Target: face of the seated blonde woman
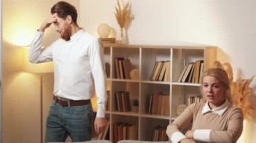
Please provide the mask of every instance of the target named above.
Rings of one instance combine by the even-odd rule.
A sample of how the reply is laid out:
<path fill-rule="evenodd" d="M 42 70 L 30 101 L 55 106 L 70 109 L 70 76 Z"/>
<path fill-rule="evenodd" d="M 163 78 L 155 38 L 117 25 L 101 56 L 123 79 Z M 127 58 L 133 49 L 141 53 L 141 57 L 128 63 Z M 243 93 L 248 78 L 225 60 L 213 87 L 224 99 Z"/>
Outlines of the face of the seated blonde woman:
<path fill-rule="evenodd" d="M 203 77 L 202 93 L 212 109 L 222 105 L 226 97 L 226 87 L 215 77 Z"/>

